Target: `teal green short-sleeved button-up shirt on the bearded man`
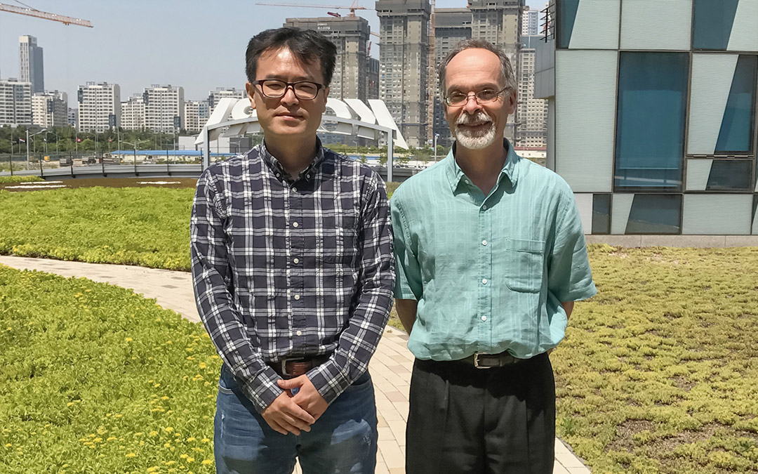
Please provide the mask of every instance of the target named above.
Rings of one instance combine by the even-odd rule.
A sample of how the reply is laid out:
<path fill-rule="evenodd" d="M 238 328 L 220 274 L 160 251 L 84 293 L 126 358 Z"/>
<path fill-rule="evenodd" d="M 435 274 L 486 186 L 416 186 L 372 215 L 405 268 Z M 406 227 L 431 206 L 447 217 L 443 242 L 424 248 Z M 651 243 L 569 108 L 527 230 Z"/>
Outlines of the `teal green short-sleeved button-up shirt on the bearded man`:
<path fill-rule="evenodd" d="M 560 303 L 597 293 L 571 188 L 504 146 L 489 196 L 453 150 L 392 196 L 395 297 L 418 301 L 408 341 L 418 359 L 535 356 L 565 334 Z"/>

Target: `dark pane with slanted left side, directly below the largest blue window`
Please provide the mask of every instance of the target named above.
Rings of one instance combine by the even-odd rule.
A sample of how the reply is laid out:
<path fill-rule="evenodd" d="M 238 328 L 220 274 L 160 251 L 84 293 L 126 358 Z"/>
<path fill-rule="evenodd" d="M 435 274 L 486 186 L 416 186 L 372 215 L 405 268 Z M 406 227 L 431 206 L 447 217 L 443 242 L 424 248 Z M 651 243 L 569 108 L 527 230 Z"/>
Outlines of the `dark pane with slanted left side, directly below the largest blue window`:
<path fill-rule="evenodd" d="M 681 194 L 636 194 L 626 234 L 681 234 Z"/>

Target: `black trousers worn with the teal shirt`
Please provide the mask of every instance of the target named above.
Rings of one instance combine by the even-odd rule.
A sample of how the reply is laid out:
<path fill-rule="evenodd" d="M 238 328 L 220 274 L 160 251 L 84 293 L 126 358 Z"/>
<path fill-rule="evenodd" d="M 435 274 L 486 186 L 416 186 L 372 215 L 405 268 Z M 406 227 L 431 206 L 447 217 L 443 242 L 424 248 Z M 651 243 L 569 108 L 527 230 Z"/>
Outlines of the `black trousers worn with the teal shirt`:
<path fill-rule="evenodd" d="M 547 354 L 497 369 L 416 359 L 408 474 L 551 474 L 556 390 Z"/>

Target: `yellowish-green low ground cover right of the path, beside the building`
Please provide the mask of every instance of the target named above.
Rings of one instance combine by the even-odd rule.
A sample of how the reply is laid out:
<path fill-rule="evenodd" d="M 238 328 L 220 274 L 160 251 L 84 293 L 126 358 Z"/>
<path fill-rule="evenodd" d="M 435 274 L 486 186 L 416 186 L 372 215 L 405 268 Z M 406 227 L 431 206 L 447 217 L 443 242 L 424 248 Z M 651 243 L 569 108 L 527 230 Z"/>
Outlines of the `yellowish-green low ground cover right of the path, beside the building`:
<path fill-rule="evenodd" d="M 559 435 L 593 472 L 758 472 L 758 248 L 590 260 L 551 356 Z"/>

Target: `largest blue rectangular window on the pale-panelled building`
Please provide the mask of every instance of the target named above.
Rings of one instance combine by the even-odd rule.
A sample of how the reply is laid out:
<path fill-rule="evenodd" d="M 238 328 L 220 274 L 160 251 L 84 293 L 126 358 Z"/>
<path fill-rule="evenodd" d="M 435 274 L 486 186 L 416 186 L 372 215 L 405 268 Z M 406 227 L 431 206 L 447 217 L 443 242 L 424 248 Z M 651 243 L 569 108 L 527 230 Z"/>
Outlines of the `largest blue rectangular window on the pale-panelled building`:
<path fill-rule="evenodd" d="M 615 186 L 681 188 L 689 55 L 622 52 Z"/>

